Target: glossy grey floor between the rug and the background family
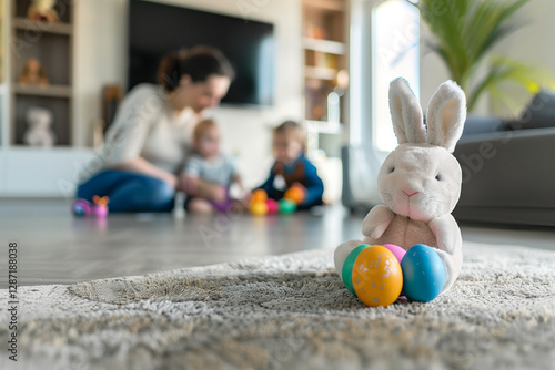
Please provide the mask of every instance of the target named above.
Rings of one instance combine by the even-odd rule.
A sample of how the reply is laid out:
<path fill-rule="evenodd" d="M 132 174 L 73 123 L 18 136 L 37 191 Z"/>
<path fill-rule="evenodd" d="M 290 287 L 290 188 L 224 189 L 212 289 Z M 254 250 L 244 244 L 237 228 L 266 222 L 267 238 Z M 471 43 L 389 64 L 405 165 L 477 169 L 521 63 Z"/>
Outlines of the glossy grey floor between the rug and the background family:
<path fill-rule="evenodd" d="M 0 199 L 0 235 L 18 243 L 20 285 L 72 284 L 264 255 L 333 248 L 361 237 L 364 215 L 326 206 L 295 215 L 112 214 L 74 218 L 63 199 Z M 555 250 L 554 228 L 461 225 L 466 241 Z M 6 266 L 6 265 L 4 265 Z M 7 288 L 1 269 L 0 288 Z"/>

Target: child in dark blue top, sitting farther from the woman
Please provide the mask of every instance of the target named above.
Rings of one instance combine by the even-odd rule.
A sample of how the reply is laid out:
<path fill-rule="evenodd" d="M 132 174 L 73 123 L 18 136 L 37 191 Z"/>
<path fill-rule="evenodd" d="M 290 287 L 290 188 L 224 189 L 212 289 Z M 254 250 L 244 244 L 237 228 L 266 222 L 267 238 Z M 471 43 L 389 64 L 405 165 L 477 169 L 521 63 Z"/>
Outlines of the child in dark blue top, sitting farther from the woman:
<path fill-rule="evenodd" d="M 275 163 L 265 183 L 259 187 L 275 201 L 283 198 L 292 186 L 302 188 L 304 199 L 299 204 L 299 209 L 321 205 L 324 193 L 316 167 L 304 156 L 304 132 L 296 122 L 285 121 L 275 127 L 272 143 Z"/>

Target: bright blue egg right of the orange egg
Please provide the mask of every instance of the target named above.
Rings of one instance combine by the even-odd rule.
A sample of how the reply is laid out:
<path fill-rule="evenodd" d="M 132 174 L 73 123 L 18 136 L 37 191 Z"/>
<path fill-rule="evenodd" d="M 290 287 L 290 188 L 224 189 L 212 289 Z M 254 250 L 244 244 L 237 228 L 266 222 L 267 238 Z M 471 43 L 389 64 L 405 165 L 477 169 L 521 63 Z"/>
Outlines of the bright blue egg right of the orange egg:
<path fill-rule="evenodd" d="M 445 267 L 434 248 L 424 244 L 413 246 L 403 257 L 401 267 L 406 298 L 428 302 L 442 291 Z"/>

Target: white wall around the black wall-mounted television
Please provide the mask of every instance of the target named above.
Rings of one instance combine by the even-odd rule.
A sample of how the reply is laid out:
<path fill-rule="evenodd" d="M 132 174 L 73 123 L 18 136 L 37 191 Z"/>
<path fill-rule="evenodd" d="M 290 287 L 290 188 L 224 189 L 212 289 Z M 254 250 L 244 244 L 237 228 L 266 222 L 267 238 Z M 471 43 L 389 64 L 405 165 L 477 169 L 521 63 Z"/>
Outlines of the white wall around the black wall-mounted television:
<path fill-rule="evenodd" d="M 301 2 L 299 0 L 167 0 L 167 3 L 244 17 L 274 23 L 276 35 L 275 105 L 266 109 L 220 106 L 212 114 L 220 122 L 223 150 L 240 155 L 248 183 L 266 173 L 270 162 L 270 126 L 284 119 L 301 119 L 303 71 Z M 127 0 L 80 0 L 75 14 L 75 142 L 88 145 L 94 120 L 100 116 L 104 84 L 125 85 Z M 251 184 L 254 185 L 254 184 Z"/>

